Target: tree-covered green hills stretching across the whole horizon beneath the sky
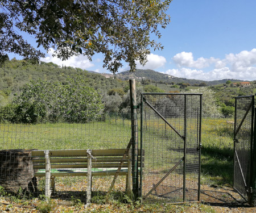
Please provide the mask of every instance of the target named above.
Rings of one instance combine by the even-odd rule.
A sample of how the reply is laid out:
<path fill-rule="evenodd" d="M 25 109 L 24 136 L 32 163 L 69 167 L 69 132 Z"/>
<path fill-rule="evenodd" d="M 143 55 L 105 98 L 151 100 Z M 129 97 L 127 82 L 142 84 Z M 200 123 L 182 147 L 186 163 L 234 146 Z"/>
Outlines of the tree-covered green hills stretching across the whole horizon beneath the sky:
<path fill-rule="evenodd" d="M 22 60 L 10 60 L 5 66 L 0 66 L 0 106 L 6 105 L 11 94 L 19 93 L 19 88 L 31 80 L 47 80 L 65 84 L 68 78 L 77 75 L 85 79 L 90 87 L 97 89 L 101 94 L 118 93 L 123 96 L 129 90 L 128 79 L 137 79 L 138 86 L 143 86 L 144 91 L 175 91 L 183 92 L 189 89 L 198 89 L 199 86 L 209 86 L 215 92 L 215 97 L 220 105 L 234 106 L 234 97 L 256 94 L 256 81 L 249 87 L 234 86 L 230 80 L 227 85 L 225 80 L 201 81 L 187 78 L 177 78 L 154 70 L 138 69 L 135 73 L 129 71 L 116 74 L 96 73 L 80 68 L 60 67 L 52 62 L 40 64 L 24 64 Z"/>

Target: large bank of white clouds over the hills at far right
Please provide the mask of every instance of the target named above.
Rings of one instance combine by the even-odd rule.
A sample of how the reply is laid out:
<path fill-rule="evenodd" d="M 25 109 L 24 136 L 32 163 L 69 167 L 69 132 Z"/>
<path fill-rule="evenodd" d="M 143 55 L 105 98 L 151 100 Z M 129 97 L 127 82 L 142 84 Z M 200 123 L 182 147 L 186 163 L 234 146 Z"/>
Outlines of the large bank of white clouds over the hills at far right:
<path fill-rule="evenodd" d="M 191 78 L 205 81 L 233 78 L 239 80 L 256 80 L 256 49 L 241 51 L 238 54 L 230 53 L 225 59 L 204 59 L 196 61 L 193 54 L 187 52 L 177 53 L 173 60 L 177 69 L 168 69 L 165 73 L 176 77 Z M 203 68 L 214 64 L 214 69 L 206 72 Z M 191 69 L 195 68 L 195 69 Z"/>

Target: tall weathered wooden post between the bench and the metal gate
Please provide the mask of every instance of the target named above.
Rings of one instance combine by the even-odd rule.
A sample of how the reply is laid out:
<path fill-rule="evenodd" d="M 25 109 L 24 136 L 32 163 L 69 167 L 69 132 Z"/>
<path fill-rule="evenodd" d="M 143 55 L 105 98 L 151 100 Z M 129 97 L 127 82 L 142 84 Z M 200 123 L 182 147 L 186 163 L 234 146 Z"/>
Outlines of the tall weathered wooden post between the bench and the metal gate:
<path fill-rule="evenodd" d="M 130 103 L 131 103 L 131 162 L 132 162 L 132 169 L 131 172 L 133 173 L 133 194 L 134 198 L 138 198 L 138 189 L 139 189 L 139 182 L 138 182 L 138 172 L 137 172 L 137 163 L 138 163 L 138 120 L 137 120 L 137 101 L 136 101 L 136 86 L 135 86 L 135 79 L 129 80 L 130 84 Z"/>

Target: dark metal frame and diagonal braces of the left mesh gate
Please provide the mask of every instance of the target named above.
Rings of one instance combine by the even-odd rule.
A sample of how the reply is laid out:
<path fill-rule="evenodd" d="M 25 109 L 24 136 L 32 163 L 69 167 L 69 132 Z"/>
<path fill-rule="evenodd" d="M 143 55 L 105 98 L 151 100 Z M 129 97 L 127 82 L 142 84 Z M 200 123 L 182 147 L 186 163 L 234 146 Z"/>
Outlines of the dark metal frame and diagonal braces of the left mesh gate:
<path fill-rule="evenodd" d="M 171 126 L 171 124 L 169 125 L 172 130 L 174 130 L 177 135 L 179 135 L 183 140 L 184 140 L 184 156 L 182 158 L 183 160 L 183 202 L 175 202 L 175 203 L 172 203 L 172 204 L 184 204 L 184 203 L 200 203 L 200 194 L 201 194 L 201 147 L 202 147 L 202 144 L 201 144 L 201 126 L 202 126 L 202 116 L 203 116 L 203 93 L 141 93 L 141 149 L 143 148 L 143 102 L 146 102 L 144 101 L 144 97 L 143 95 L 184 95 L 184 101 L 185 101 L 185 104 L 184 104 L 184 136 L 181 136 L 179 132 L 177 132 L 175 130 L 175 128 L 173 128 Z M 200 95 L 200 112 L 199 112 L 199 131 L 198 131 L 198 134 L 199 134 L 199 140 L 198 140 L 198 145 L 199 145 L 199 176 L 198 176 L 198 194 L 197 194 L 197 201 L 185 201 L 185 189 L 186 189 L 186 151 L 187 151 L 187 143 L 186 143 L 186 139 L 187 139 L 187 95 Z M 160 115 L 160 113 L 159 113 Z M 162 115 L 161 115 L 162 116 Z M 165 119 L 163 119 L 164 122 Z M 145 153 L 146 154 L 146 153 Z M 181 160 L 180 160 L 181 161 Z M 176 166 L 180 163 L 180 161 L 173 167 L 171 168 L 171 170 L 166 174 L 166 176 L 164 176 L 157 184 L 156 184 L 156 187 L 158 185 L 160 185 L 160 182 L 162 182 L 164 180 L 164 178 L 166 178 L 169 174 L 171 174 L 175 169 L 176 169 Z M 141 165 L 142 165 L 142 158 L 141 158 Z M 143 166 L 144 167 L 144 166 Z M 143 183 L 143 169 L 141 169 L 140 171 L 140 185 L 139 185 L 139 197 L 141 197 L 141 203 L 143 202 L 143 195 L 142 195 L 142 183 Z M 153 187 L 154 189 L 154 187 Z"/>

